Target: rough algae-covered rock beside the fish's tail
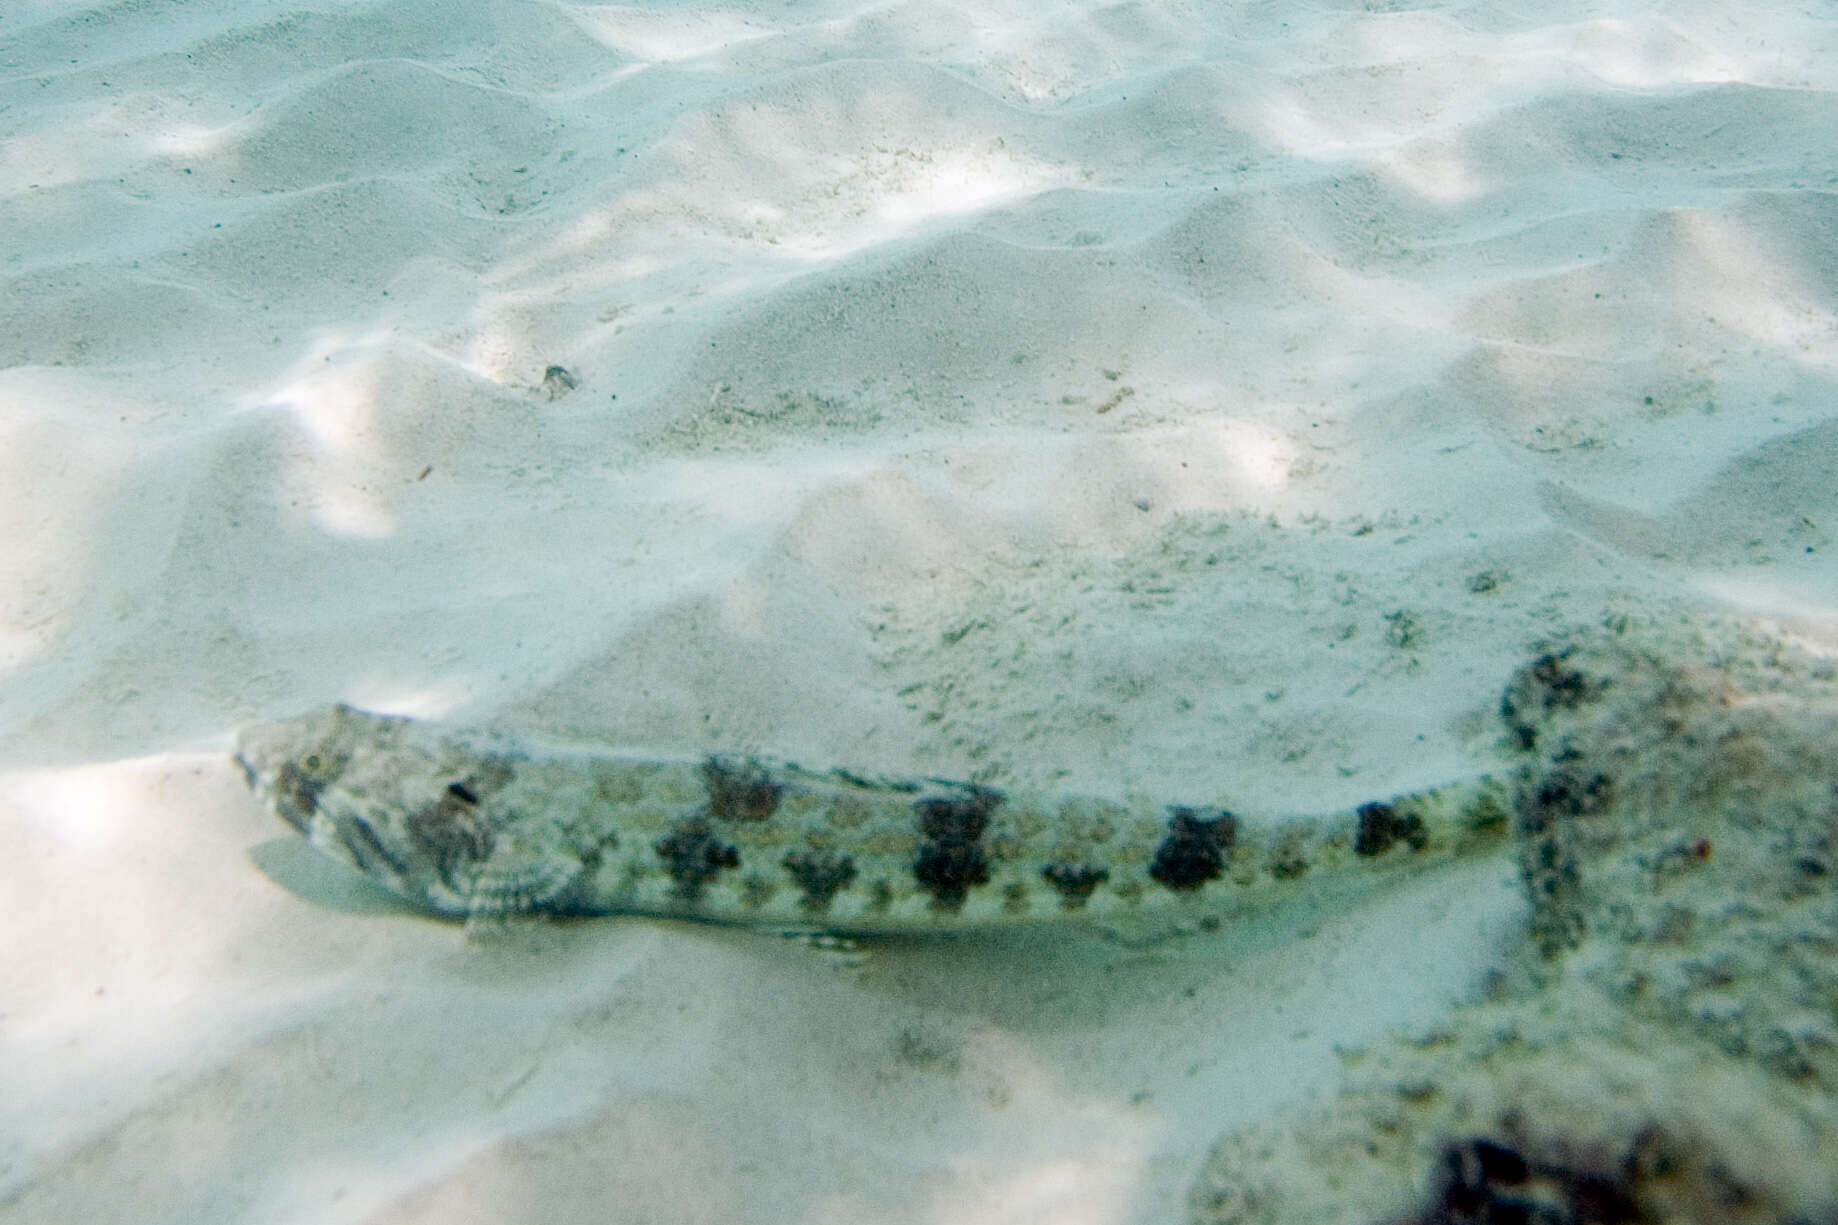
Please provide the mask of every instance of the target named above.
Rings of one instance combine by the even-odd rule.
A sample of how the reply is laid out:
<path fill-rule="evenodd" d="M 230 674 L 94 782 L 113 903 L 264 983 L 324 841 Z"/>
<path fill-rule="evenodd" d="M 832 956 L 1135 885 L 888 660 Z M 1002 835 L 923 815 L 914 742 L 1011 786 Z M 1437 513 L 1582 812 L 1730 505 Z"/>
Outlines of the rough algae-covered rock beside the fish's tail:
<path fill-rule="evenodd" d="M 1531 907 L 1494 999 L 1224 1137 L 1195 1221 L 1838 1221 L 1838 670 L 1617 620 L 1502 701 Z"/>

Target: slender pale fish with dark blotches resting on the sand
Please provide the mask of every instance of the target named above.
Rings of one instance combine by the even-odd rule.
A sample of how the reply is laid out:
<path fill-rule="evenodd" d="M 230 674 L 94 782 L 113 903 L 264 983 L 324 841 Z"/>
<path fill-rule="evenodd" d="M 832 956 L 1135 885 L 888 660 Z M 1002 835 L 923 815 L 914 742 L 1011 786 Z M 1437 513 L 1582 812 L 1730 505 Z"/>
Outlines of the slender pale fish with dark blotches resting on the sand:
<path fill-rule="evenodd" d="M 331 706 L 237 761 L 318 850 L 456 920 L 656 914 L 833 933 L 1129 923 L 1496 846 L 1494 778 L 1312 819 L 656 760 Z"/>

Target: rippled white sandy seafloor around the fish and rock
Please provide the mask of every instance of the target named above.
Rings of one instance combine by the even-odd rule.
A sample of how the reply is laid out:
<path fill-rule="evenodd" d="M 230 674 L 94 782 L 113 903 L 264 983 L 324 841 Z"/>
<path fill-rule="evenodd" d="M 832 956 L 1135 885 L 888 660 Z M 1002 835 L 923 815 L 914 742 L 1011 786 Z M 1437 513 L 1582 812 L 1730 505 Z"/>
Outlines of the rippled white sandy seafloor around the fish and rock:
<path fill-rule="evenodd" d="M 476 947 L 232 730 L 1299 815 L 1487 769 L 1605 612 L 1832 640 L 1834 88 L 1803 2 L 9 0 L 0 1219 L 1180 1219 L 1480 995 L 1509 859 Z"/>

